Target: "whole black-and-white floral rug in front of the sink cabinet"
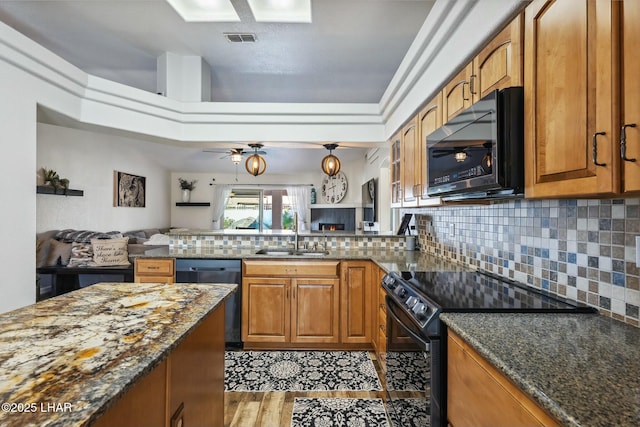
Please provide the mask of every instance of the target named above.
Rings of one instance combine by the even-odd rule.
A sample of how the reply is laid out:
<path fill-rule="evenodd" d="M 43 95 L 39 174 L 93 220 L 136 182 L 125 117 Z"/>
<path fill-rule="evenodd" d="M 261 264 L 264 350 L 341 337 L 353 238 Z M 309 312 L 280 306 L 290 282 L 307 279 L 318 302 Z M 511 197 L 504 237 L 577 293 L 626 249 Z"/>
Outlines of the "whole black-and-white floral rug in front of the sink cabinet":
<path fill-rule="evenodd" d="M 227 351 L 225 391 L 379 391 L 365 351 Z"/>

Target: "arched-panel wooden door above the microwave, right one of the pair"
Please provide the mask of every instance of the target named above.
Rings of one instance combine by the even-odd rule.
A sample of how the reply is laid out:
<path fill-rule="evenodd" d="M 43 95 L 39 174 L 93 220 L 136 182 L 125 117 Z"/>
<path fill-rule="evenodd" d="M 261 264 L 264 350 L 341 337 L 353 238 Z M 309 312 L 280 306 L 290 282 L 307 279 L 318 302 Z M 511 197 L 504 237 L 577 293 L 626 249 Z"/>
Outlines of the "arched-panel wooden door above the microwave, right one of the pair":
<path fill-rule="evenodd" d="M 522 19 L 518 15 L 473 59 L 474 102 L 495 89 L 522 86 Z"/>

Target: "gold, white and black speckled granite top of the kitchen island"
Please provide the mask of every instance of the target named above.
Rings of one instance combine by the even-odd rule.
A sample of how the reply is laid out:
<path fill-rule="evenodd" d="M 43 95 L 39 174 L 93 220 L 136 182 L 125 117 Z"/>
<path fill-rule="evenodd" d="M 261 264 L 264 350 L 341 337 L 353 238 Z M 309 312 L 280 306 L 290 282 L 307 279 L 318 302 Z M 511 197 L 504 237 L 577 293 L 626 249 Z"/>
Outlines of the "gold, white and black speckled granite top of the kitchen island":
<path fill-rule="evenodd" d="M 0 315 L 0 425 L 87 425 L 235 289 L 100 283 Z"/>

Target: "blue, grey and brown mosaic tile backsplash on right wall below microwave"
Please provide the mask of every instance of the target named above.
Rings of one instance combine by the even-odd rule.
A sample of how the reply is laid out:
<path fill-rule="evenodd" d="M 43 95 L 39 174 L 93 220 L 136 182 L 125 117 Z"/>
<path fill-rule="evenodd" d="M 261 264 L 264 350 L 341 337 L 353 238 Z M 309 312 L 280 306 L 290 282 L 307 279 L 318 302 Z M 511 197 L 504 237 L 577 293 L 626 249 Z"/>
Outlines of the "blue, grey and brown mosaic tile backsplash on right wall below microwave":
<path fill-rule="evenodd" d="M 640 199 L 513 200 L 411 209 L 420 250 L 640 326 Z"/>

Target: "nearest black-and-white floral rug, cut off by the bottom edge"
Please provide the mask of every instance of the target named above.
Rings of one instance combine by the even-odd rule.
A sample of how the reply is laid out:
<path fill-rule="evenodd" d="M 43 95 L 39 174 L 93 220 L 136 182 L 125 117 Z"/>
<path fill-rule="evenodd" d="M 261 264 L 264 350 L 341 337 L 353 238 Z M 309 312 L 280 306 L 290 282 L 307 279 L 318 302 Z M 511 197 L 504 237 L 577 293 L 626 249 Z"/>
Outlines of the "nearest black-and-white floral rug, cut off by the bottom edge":
<path fill-rule="evenodd" d="M 291 427 L 389 427 L 382 399 L 297 397 Z"/>

